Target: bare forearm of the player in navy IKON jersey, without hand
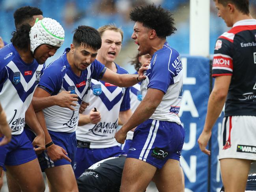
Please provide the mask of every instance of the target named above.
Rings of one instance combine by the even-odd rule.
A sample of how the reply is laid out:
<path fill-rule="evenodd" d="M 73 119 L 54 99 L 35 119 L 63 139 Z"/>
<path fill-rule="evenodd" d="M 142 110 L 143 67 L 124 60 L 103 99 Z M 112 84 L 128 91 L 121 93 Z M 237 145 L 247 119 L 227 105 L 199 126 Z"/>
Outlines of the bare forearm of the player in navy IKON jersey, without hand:
<path fill-rule="evenodd" d="M 210 132 L 213 125 L 217 121 L 224 103 L 226 101 L 226 95 L 220 95 L 218 92 L 212 91 L 208 101 L 206 121 L 204 124 L 204 131 Z"/>

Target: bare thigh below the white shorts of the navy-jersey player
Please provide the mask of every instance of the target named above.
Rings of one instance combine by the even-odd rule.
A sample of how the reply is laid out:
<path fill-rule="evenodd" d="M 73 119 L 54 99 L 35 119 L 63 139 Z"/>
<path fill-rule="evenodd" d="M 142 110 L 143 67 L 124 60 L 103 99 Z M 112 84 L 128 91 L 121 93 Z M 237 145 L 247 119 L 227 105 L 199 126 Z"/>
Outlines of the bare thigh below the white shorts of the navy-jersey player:
<path fill-rule="evenodd" d="M 220 170 L 225 192 L 245 191 L 251 160 L 220 159 Z"/>

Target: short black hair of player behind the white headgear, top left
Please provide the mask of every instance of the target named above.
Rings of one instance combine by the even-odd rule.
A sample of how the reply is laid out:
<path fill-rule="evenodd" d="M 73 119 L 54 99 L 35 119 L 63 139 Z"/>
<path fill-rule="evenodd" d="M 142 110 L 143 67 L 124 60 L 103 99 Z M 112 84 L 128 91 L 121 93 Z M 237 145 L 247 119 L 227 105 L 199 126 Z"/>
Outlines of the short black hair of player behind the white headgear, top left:
<path fill-rule="evenodd" d="M 43 15 L 41 9 L 37 7 L 24 6 L 13 13 L 15 27 L 19 28 L 24 23 L 32 21 L 34 15 Z"/>

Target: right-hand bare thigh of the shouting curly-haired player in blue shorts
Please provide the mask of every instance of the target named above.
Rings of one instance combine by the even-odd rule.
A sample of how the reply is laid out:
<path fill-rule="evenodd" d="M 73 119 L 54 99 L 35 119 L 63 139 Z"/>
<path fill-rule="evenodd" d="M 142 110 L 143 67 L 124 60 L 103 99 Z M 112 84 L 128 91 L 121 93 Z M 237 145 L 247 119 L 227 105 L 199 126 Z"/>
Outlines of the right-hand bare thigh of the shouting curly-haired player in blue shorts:
<path fill-rule="evenodd" d="M 183 192 L 179 161 L 168 159 L 163 168 L 156 171 L 154 182 L 159 192 Z"/>

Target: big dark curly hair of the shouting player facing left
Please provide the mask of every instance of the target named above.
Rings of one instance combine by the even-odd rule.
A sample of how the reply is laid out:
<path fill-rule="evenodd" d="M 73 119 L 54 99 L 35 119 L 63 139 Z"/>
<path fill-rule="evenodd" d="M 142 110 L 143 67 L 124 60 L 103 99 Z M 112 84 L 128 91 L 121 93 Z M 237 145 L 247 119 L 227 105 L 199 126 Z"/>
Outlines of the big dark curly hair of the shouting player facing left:
<path fill-rule="evenodd" d="M 163 9 L 161 6 L 156 7 L 155 4 L 136 7 L 131 11 L 130 19 L 141 22 L 143 26 L 155 30 L 160 38 L 165 38 L 176 31 L 170 11 Z"/>

